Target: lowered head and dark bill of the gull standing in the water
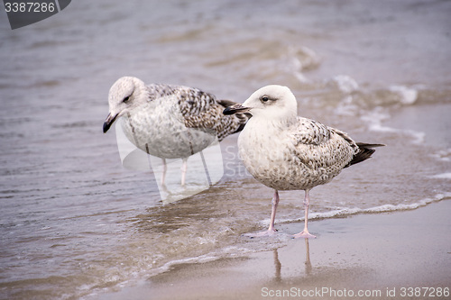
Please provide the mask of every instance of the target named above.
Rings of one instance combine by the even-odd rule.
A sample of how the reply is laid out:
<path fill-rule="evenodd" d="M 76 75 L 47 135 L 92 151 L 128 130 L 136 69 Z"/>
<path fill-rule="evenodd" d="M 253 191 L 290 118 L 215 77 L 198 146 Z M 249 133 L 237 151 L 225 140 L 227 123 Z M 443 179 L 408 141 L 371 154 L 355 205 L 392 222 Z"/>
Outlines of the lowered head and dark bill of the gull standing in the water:
<path fill-rule="evenodd" d="M 111 86 L 108 95 L 109 114 L 104 123 L 104 133 L 115 120 L 147 102 L 148 93 L 143 81 L 136 77 L 121 77 Z"/>

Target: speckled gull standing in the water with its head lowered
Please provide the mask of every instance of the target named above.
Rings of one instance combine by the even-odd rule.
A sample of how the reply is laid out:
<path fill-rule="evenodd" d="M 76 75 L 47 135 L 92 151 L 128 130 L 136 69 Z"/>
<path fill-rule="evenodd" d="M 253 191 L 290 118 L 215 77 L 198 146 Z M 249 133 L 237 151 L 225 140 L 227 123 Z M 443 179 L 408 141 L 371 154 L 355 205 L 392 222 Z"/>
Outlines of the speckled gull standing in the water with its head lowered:
<path fill-rule="evenodd" d="M 187 159 L 212 142 L 240 132 L 249 114 L 224 115 L 235 102 L 189 86 L 145 85 L 136 77 L 121 77 L 108 95 L 107 132 L 120 118 L 125 136 L 137 148 L 163 160 L 161 186 L 165 184 L 166 159 L 183 159 L 181 185 L 185 185 Z"/>

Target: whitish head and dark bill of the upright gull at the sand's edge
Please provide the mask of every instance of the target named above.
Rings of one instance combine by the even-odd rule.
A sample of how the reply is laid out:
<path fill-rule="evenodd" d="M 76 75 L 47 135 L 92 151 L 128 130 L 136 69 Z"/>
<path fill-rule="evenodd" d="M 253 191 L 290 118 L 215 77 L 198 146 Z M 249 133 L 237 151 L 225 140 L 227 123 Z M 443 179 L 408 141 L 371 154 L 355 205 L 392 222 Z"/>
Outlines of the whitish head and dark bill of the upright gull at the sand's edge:
<path fill-rule="evenodd" d="M 224 114 L 239 112 L 252 114 L 253 118 L 290 120 L 298 115 L 298 103 L 287 86 L 263 86 L 244 101 L 243 105 L 227 107 Z"/>

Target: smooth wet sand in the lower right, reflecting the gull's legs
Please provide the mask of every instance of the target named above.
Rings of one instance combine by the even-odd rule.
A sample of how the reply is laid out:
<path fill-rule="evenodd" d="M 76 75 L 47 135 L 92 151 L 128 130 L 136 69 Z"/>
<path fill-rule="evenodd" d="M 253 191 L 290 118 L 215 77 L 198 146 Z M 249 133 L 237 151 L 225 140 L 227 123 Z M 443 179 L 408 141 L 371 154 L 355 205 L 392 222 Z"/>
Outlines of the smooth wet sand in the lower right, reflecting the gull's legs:
<path fill-rule="evenodd" d="M 451 287 L 449 212 L 451 201 L 443 200 L 411 211 L 313 221 L 315 240 L 179 264 L 99 299 L 449 299 L 440 294 Z M 299 223 L 277 228 L 294 233 Z"/>

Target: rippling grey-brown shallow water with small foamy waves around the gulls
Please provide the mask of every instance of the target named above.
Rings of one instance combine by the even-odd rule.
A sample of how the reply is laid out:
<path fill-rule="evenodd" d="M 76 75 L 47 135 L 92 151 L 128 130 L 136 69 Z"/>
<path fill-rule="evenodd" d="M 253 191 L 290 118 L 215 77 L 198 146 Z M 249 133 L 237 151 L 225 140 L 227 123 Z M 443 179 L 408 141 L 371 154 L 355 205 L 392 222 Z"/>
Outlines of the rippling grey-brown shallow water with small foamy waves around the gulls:
<path fill-rule="evenodd" d="M 245 172 L 237 135 L 221 143 L 221 180 L 169 204 L 158 176 L 122 166 L 101 126 L 124 75 L 238 102 L 283 84 L 299 114 L 387 144 L 313 189 L 313 219 L 450 199 L 450 13 L 446 1 L 78 0 L 14 31 L 1 13 L 0 297 L 95 298 L 179 261 L 286 242 L 240 238 L 267 225 L 272 191 Z M 281 192 L 276 222 L 300 231 L 302 198 Z"/>

